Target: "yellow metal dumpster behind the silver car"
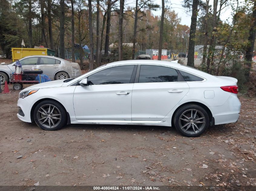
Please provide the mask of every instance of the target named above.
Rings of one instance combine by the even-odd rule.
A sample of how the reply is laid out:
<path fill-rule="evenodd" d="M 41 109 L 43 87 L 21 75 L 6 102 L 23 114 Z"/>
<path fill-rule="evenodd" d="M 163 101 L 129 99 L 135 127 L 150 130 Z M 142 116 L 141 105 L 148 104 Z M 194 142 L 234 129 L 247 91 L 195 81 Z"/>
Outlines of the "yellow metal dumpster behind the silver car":
<path fill-rule="evenodd" d="M 34 55 L 47 56 L 47 48 L 12 48 L 13 62 L 25 56 L 34 56 Z"/>

